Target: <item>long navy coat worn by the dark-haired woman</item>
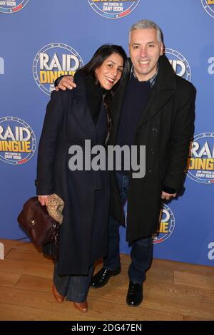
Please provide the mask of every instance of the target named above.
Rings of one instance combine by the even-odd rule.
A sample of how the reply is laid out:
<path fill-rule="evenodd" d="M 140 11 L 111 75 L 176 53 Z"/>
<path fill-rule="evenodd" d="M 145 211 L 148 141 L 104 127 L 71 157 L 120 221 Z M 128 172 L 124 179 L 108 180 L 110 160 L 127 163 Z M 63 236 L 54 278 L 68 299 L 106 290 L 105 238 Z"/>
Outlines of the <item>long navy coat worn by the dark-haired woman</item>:
<path fill-rule="evenodd" d="M 93 123 L 83 75 L 75 90 L 54 91 L 47 105 L 39 143 L 37 195 L 58 194 L 65 202 L 61 225 L 58 274 L 87 274 L 96 259 L 105 256 L 108 237 L 108 172 L 71 171 L 68 148 L 106 138 L 106 110 Z"/>

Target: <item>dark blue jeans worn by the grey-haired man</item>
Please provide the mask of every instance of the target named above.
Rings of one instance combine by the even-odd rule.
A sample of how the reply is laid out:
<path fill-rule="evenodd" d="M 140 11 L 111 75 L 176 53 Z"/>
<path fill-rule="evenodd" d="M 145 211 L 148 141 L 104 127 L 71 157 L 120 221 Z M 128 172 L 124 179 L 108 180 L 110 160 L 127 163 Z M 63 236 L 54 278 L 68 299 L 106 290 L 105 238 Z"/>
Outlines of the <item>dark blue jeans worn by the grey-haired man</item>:
<path fill-rule="evenodd" d="M 121 200 L 125 205 L 128 195 L 128 177 L 116 172 L 118 188 Z M 142 218 L 143 220 L 143 218 Z M 109 218 L 108 230 L 108 254 L 103 259 L 103 267 L 108 270 L 116 270 L 121 267 L 120 260 L 120 223 L 113 217 Z M 143 284 L 146 280 L 146 271 L 151 267 L 153 257 L 152 238 L 137 239 L 131 243 L 131 265 L 128 268 L 128 277 L 131 282 Z"/>

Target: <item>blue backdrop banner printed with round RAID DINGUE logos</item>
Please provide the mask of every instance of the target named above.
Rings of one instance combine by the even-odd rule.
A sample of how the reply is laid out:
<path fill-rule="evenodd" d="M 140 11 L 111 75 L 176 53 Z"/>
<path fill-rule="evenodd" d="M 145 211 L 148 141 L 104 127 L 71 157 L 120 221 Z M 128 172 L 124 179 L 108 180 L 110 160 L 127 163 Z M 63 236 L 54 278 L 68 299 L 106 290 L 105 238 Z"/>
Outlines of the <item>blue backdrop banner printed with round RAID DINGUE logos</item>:
<path fill-rule="evenodd" d="M 2 239 L 26 237 L 16 217 L 35 195 L 39 137 L 55 79 L 75 73 L 103 43 L 128 52 L 128 30 L 140 19 L 161 26 L 171 65 L 198 91 L 185 192 L 163 207 L 154 257 L 214 265 L 214 0 L 0 0 Z M 123 228 L 121 252 L 129 252 Z"/>

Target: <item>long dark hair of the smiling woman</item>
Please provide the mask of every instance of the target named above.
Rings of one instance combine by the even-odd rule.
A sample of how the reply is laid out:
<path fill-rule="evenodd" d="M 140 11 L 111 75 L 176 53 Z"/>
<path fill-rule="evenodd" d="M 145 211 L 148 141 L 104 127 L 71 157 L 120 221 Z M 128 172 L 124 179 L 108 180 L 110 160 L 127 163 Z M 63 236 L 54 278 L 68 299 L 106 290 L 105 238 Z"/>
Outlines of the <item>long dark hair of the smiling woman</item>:
<path fill-rule="evenodd" d="M 123 58 L 123 74 L 121 76 L 122 79 L 123 76 L 125 76 L 126 73 L 128 72 L 128 59 L 126 56 L 126 51 L 124 51 L 122 46 L 117 46 L 113 44 L 104 44 L 103 46 L 98 48 L 96 53 L 94 53 L 93 57 L 91 58 L 91 61 L 89 61 L 85 66 L 83 66 L 83 68 L 79 69 L 78 73 L 81 72 L 85 73 L 86 75 L 90 74 L 94 78 L 95 83 L 99 85 L 98 79 L 96 78 L 95 75 L 96 68 L 99 68 L 102 65 L 103 61 L 105 61 L 106 58 L 111 56 L 112 53 L 117 53 Z M 111 101 L 114 94 L 117 91 L 121 79 L 113 86 L 113 88 L 111 88 L 111 90 L 106 91 L 105 95 L 103 96 L 103 104 L 106 107 L 108 117 L 108 135 L 105 141 L 105 145 L 108 144 L 113 122 Z"/>

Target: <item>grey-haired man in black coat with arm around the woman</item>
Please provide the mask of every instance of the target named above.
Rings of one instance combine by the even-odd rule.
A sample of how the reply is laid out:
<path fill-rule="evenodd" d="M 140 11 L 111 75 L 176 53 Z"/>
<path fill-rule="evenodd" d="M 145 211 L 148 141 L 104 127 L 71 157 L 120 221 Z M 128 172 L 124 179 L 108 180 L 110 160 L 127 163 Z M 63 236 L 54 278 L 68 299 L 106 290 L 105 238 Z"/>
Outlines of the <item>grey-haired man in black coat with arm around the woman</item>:
<path fill-rule="evenodd" d="M 130 73 L 113 99 L 110 144 L 146 145 L 146 175 L 134 179 L 124 169 L 111 175 L 108 254 L 91 287 L 103 287 L 121 272 L 119 225 L 124 224 L 123 204 L 128 200 L 126 239 L 132 247 L 126 302 L 138 306 L 152 262 L 151 236 L 158 229 L 161 199 L 172 199 L 183 186 L 194 131 L 195 88 L 174 73 L 163 54 L 161 29 L 153 21 L 133 24 L 129 51 Z M 60 88 L 75 86 L 63 79 Z"/>

